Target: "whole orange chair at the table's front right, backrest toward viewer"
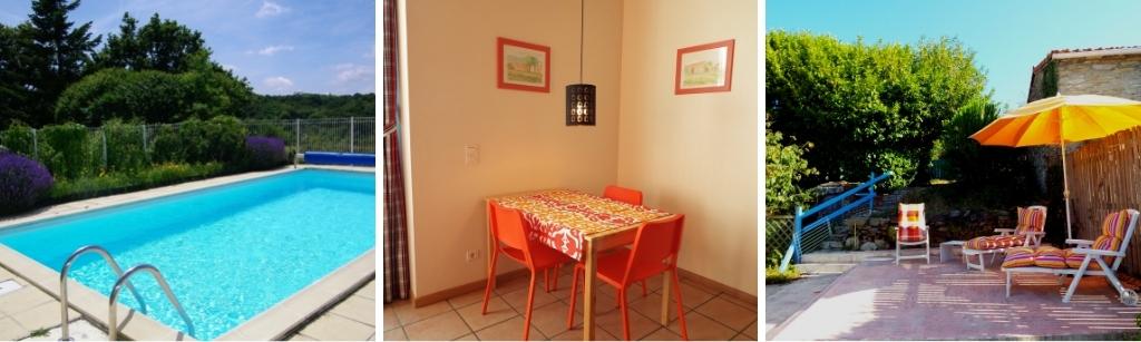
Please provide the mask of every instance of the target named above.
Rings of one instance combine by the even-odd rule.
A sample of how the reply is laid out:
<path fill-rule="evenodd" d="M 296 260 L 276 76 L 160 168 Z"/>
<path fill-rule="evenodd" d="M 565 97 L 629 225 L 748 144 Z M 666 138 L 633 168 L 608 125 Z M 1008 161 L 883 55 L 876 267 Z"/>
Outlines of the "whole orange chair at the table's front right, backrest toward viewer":
<path fill-rule="evenodd" d="M 678 214 L 664 220 L 642 223 L 634 236 L 633 250 L 620 249 L 617 252 L 598 259 L 598 278 L 618 290 L 618 304 L 622 309 L 622 339 L 630 340 L 630 317 L 626 304 L 626 288 L 638 280 L 671 271 L 673 295 L 677 300 L 678 319 L 681 324 L 681 339 L 689 340 L 686 333 L 686 315 L 681 307 L 681 286 L 678 284 L 678 250 L 681 249 L 681 227 L 686 217 Z M 567 328 L 574 326 L 574 306 L 577 302 L 578 272 L 585 266 L 575 264 L 574 283 L 570 285 L 570 309 L 567 310 Z"/>

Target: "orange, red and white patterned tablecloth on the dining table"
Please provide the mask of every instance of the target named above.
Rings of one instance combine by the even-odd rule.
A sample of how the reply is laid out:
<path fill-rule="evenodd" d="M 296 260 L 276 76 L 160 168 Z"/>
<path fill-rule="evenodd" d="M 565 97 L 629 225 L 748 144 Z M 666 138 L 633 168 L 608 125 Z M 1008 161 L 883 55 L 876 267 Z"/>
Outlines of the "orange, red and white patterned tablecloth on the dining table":
<path fill-rule="evenodd" d="M 495 198 L 504 207 L 523 212 L 531 223 L 529 238 L 582 260 L 588 235 L 670 215 L 656 209 L 632 205 L 591 194 L 558 189 Z"/>

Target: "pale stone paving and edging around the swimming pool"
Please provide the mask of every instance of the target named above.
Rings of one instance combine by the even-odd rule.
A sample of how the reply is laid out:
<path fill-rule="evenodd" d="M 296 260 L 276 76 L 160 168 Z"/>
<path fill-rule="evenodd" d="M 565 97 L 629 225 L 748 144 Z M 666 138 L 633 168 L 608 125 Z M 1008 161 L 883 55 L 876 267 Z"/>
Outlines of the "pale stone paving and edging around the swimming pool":
<path fill-rule="evenodd" d="M 302 166 L 305 168 L 305 166 Z M 317 169 L 333 169 L 348 171 L 375 171 L 373 168 L 354 166 L 319 166 Z M 55 217 L 73 214 L 107 206 L 131 203 L 141 199 L 161 197 L 165 195 L 184 193 L 221 184 L 229 184 L 248 179 L 266 177 L 293 170 L 282 168 L 272 171 L 246 172 L 241 174 L 224 176 L 205 180 L 189 181 L 171 186 L 157 187 L 135 193 L 111 195 L 104 197 L 88 198 L 75 202 L 62 203 L 47 206 L 31 213 L 0 218 L 0 229 L 25 222 L 50 219 Z M 11 262 L 11 261 L 9 261 Z M 58 276 L 58 275 L 57 275 Z M 0 283 L 15 280 L 19 288 L 0 294 L 0 341 L 16 340 L 57 340 L 60 336 L 60 312 L 59 302 L 54 294 L 31 284 L 25 276 L 22 276 L 0 261 Z M 374 293 L 375 280 L 357 288 L 353 294 L 345 296 L 330 310 L 321 314 L 310 321 L 299 333 L 293 334 L 294 340 L 375 340 L 375 307 Z M 82 288 L 74 288 L 82 292 Z M 79 294 L 79 293 L 76 293 Z M 104 299 L 105 301 L 106 299 Z M 105 303 L 104 303 L 105 306 Z M 76 340 L 106 340 L 106 331 L 92 325 L 87 317 L 74 310 L 75 299 L 68 309 L 71 325 L 70 334 Z M 366 309 L 365 309 L 366 308 Z M 122 309 L 122 308 L 121 308 Z M 96 317 L 100 320 L 102 317 Z M 148 320 L 148 319 L 137 319 Z M 102 321 L 102 320 L 100 320 Z M 102 326 L 102 325 L 100 325 Z M 130 325 L 124 333 L 130 333 Z M 34 335 L 34 336 L 33 336 Z"/>

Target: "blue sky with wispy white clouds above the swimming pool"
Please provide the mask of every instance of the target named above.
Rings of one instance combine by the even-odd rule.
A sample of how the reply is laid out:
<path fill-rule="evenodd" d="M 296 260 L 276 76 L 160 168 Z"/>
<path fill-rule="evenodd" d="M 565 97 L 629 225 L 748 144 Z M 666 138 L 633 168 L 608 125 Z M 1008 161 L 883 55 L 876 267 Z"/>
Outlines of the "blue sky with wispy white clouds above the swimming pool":
<path fill-rule="evenodd" d="M 106 36 L 124 11 L 140 26 L 157 13 L 202 32 L 213 59 L 258 93 L 375 91 L 373 0 L 87 0 L 71 19 Z M 6 25 L 30 13 L 30 0 L 0 1 Z"/>

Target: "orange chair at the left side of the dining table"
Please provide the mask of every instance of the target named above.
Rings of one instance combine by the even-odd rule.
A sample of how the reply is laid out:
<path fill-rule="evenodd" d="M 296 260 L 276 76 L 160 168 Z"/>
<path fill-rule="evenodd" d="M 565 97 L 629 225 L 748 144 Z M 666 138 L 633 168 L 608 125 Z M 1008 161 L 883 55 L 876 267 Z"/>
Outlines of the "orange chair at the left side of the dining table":
<path fill-rule="evenodd" d="M 502 207 L 496 202 L 492 202 L 492 238 L 496 241 L 496 247 L 492 251 L 492 263 L 487 270 L 483 315 L 487 315 L 487 301 L 492 294 L 495 264 L 499 261 L 499 254 L 503 253 L 531 270 L 531 287 L 528 287 L 527 292 L 527 314 L 523 320 L 523 340 L 527 340 L 531 332 L 531 310 L 535 300 L 535 275 L 540 270 L 544 271 L 545 275 L 547 270 L 572 259 L 559 251 L 543 245 L 539 241 L 528 239 L 527 231 L 531 230 L 531 227 L 523 219 L 523 213 L 518 210 Z M 556 276 L 558 276 L 557 272 Z"/>

